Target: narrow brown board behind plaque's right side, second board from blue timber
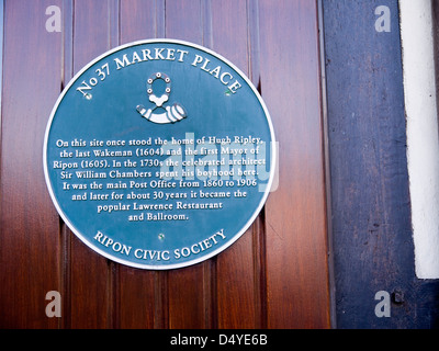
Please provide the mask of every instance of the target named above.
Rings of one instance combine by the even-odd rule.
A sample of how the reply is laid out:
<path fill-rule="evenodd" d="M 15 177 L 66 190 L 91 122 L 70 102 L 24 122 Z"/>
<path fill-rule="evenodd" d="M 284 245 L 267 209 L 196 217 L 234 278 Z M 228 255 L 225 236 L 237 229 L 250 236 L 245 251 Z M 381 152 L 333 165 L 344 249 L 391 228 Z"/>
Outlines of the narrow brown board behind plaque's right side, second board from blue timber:
<path fill-rule="evenodd" d="M 246 0 L 212 1 L 213 49 L 249 73 Z M 254 267 L 252 227 L 217 257 L 219 328 L 256 328 L 260 310 Z"/>

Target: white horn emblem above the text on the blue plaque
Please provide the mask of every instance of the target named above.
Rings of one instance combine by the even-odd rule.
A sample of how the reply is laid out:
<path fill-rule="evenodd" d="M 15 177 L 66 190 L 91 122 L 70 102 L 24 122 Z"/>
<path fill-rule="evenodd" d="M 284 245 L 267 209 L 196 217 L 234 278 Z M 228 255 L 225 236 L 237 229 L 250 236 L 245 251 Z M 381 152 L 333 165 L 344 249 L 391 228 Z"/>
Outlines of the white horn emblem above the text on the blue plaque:
<path fill-rule="evenodd" d="M 165 93 L 161 97 L 157 97 L 153 90 L 153 83 L 157 79 L 162 79 L 166 82 Z M 177 102 L 172 106 L 162 106 L 166 102 L 168 102 L 169 94 L 171 92 L 171 79 L 167 75 L 161 72 L 154 73 L 148 78 L 147 82 L 149 101 L 156 106 L 154 109 L 146 109 L 144 105 L 137 105 L 137 112 L 143 117 L 158 124 L 176 123 L 187 117 L 184 107 Z M 154 111 L 158 107 L 165 109 L 166 112 L 155 113 Z"/>

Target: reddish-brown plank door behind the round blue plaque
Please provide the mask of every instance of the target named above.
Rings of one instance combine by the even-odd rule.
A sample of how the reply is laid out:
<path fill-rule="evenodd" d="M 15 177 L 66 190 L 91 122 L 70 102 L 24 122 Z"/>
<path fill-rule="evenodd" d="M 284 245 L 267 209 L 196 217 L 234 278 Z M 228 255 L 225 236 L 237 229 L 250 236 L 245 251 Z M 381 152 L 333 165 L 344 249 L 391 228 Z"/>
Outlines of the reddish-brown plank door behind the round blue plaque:
<path fill-rule="evenodd" d="M 60 32 L 46 30 L 57 7 Z M 0 327 L 328 328 L 327 208 L 318 1 L 4 0 Z M 217 257 L 173 271 L 109 261 L 60 220 L 43 174 L 45 127 L 94 57 L 137 39 L 209 47 L 261 92 L 279 186 Z M 48 318 L 46 293 L 61 296 Z"/>

